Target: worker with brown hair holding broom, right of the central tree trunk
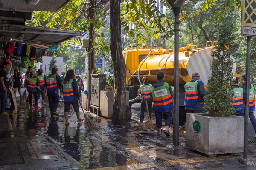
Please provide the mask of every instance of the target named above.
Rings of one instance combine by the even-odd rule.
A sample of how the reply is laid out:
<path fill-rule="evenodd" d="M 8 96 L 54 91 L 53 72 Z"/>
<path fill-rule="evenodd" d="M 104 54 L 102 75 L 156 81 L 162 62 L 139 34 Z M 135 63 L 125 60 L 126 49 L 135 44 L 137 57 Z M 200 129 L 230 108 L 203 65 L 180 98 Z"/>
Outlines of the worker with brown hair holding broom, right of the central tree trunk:
<path fill-rule="evenodd" d="M 140 94 L 142 96 L 141 100 L 141 105 L 140 105 L 140 123 L 143 123 L 144 120 L 144 113 L 146 109 L 146 102 L 145 102 L 145 97 L 150 97 L 151 95 L 151 88 L 152 85 L 148 84 L 148 77 L 143 77 L 142 78 L 143 85 L 140 86 Z M 149 111 L 149 116 L 150 119 L 152 118 L 152 99 L 148 99 L 148 111 Z"/>

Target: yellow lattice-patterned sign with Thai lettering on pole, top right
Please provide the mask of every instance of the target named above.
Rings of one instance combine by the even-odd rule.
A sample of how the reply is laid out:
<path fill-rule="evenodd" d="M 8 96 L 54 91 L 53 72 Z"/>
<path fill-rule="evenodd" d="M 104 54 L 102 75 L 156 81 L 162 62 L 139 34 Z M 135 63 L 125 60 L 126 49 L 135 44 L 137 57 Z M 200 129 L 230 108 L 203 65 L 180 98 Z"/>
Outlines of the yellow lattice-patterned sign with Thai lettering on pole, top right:
<path fill-rule="evenodd" d="M 256 36 L 256 0 L 242 0 L 241 35 Z"/>

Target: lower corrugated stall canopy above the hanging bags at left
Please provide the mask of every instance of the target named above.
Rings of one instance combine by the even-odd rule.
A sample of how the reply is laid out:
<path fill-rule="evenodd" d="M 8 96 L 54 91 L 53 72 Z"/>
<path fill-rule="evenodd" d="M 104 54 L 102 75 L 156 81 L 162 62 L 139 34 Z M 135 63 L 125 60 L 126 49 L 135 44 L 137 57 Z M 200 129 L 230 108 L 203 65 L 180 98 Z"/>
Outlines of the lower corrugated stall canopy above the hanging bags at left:
<path fill-rule="evenodd" d="M 0 41 L 20 42 L 47 49 L 71 38 L 82 36 L 80 31 L 50 29 L 22 25 L 0 24 Z"/>

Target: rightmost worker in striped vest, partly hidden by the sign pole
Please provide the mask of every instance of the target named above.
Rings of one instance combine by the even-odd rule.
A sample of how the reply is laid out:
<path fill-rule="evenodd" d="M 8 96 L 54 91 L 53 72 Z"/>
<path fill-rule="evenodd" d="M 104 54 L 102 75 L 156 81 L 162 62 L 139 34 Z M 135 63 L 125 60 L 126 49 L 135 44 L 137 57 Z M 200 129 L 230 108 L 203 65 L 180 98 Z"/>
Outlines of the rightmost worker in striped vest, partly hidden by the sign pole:
<path fill-rule="evenodd" d="M 246 99 L 246 75 L 243 74 L 242 75 L 242 79 L 241 79 L 241 84 L 242 84 L 242 88 L 243 88 L 243 102 L 244 102 L 244 113 L 245 113 L 245 99 Z M 252 122 L 253 128 L 254 128 L 254 132 L 255 132 L 255 138 L 256 138 L 256 119 L 254 116 L 254 111 L 255 111 L 255 88 L 253 84 L 250 84 L 250 90 L 249 90 L 249 118 L 250 121 Z"/>

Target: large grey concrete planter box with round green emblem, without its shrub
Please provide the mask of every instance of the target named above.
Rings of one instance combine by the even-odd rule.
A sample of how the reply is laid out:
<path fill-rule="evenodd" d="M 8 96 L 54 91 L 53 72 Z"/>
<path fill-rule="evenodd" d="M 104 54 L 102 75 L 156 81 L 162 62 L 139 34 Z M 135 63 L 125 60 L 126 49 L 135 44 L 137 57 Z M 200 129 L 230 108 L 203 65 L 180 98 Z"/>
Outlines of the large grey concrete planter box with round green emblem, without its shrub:
<path fill-rule="evenodd" d="M 209 156 L 243 152 L 244 117 L 209 115 L 186 114 L 186 146 Z M 200 129 L 198 122 L 195 121 L 199 122 Z"/>

